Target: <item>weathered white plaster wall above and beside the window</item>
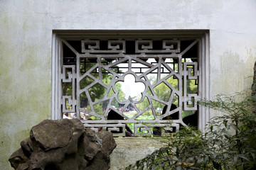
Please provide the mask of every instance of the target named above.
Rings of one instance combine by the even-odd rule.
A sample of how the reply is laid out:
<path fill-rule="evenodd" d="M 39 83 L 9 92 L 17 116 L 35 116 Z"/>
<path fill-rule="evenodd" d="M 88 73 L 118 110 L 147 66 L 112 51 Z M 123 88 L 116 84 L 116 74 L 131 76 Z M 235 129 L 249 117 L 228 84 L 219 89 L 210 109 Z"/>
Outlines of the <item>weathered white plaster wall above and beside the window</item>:
<path fill-rule="evenodd" d="M 1 0 L 0 169 L 51 111 L 53 29 L 209 29 L 210 96 L 249 89 L 256 1 Z"/>

